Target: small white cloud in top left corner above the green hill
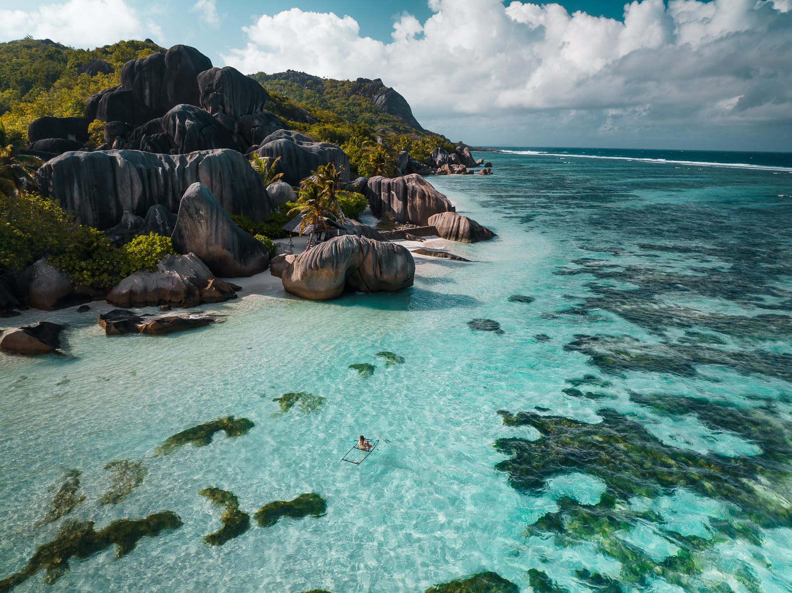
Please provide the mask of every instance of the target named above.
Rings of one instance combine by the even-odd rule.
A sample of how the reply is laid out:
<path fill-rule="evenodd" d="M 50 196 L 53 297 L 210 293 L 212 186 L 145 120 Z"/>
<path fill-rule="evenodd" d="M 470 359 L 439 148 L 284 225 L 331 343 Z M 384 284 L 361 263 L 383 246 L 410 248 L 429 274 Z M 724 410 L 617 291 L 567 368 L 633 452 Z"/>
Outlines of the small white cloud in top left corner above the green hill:
<path fill-rule="evenodd" d="M 95 48 L 122 39 L 162 37 L 162 29 L 144 23 L 125 0 L 68 0 L 37 10 L 0 10 L 0 40 L 51 39 L 78 48 Z"/>

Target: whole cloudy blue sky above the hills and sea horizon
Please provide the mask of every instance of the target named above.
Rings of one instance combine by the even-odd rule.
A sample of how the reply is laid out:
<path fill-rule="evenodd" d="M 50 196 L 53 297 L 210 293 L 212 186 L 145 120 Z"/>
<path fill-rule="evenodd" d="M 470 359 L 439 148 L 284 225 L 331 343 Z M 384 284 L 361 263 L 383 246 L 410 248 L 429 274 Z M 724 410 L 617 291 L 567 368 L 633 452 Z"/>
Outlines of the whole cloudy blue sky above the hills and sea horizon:
<path fill-rule="evenodd" d="M 0 0 L 27 34 L 382 78 L 468 143 L 792 150 L 792 0 Z"/>

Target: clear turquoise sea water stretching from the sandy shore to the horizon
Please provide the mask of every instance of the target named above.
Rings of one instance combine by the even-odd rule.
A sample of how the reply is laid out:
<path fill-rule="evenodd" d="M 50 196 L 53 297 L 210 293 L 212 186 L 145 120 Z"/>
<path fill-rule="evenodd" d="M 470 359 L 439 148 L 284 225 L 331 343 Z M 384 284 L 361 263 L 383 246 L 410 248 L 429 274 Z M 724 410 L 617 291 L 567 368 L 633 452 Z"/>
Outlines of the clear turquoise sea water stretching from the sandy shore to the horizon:
<path fill-rule="evenodd" d="M 792 169 L 475 156 L 492 176 L 430 181 L 497 238 L 447 244 L 474 263 L 417 260 L 408 291 L 272 289 L 163 337 L 33 316 L 69 324 L 69 355 L 0 358 L 0 578 L 70 519 L 169 510 L 177 530 L 15 591 L 425 591 L 485 570 L 531 591 L 530 569 L 567 591 L 605 590 L 585 571 L 623 591 L 792 590 Z M 272 401 L 299 391 L 326 399 Z M 228 415 L 255 427 L 155 454 Z M 382 442 L 341 462 L 361 433 Z M 102 505 L 120 459 L 147 475 Z M 40 525 L 68 469 L 86 498 Z M 251 515 L 303 492 L 327 512 L 209 546 L 210 486 Z"/>

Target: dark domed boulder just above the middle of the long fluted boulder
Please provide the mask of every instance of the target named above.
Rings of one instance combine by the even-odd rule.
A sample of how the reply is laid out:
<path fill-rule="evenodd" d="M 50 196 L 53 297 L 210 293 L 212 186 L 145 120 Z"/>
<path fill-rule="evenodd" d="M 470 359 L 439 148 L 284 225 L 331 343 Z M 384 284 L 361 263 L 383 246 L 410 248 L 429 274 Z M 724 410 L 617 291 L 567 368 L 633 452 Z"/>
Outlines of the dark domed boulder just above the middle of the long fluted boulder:
<path fill-rule="evenodd" d="M 179 154 L 196 150 L 237 148 L 237 143 L 226 127 L 194 105 L 176 105 L 162 116 L 161 121 L 162 131 L 169 136 L 171 145 Z"/>

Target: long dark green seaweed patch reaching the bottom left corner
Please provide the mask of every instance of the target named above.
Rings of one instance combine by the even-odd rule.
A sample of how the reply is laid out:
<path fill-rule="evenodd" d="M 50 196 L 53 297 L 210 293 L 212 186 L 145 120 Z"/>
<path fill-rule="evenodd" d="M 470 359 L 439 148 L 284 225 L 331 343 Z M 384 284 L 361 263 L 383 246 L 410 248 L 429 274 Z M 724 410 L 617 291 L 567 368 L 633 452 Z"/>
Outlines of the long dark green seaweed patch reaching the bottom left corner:
<path fill-rule="evenodd" d="M 177 529 L 184 523 L 173 511 L 162 511 L 146 519 L 118 519 L 105 529 L 93 529 L 93 521 L 69 521 L 63 523 L 55 539 L 40 545 L 36 553 L 21 571 L 0 580 L 0 593 L 10 591 L 36 572 L 44 569 L 44 583 L 55 583 L 69 570 L 69 559 L 85 559 L 110 545 L 116 544 L 116 558 L 124 557 L 135 549 L 144 536 L 154 537 L 162 530 Z"/>

